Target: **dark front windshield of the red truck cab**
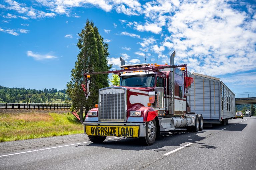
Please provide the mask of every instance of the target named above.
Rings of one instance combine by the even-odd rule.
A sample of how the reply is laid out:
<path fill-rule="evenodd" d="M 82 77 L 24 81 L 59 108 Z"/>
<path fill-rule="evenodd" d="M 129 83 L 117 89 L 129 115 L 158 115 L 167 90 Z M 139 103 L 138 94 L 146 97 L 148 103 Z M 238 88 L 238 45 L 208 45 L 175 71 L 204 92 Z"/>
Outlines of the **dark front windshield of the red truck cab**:
<path fill-rule="evenodd" d="M 132 76 L 120 77 L 120 86 L 153 87 L 154 83 L 155 83 L 154 75 L 132 75 Z"/>

